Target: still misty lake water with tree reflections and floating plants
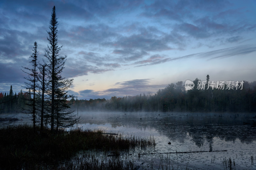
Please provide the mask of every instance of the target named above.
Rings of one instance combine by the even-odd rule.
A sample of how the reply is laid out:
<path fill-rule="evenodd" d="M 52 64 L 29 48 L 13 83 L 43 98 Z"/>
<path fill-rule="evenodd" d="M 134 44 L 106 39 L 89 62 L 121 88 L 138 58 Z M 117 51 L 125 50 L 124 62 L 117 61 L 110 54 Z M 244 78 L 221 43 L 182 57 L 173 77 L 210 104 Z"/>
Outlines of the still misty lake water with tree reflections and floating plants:
<path fill-rule="evenodd" d="M 83 129 L 102 129 L 124 136 L 153 136 L 155 148 L 121 154 L 124 161 L 132 160 L 135 165 L 143 163 L 140 169 L 161 169 L 162 165 L 167 165 L 168 169 L 169 166 L 171 169 L 225 169 L 225 160 L 229 158 L 235 161 L 236 169 L 256 169 L 256 127 L 251 126 L 256 120 L 255 114 L 83 112 L 79 115 L 81 122 L 77 126 Z M 16 124 L 24 122 L 27 121 Z M 244 122 L 249 124 L 244 125 Z M 227 152 L 160 154 L 210 150 Z M 156 154 L 139 157 L 138 153 Z"/>

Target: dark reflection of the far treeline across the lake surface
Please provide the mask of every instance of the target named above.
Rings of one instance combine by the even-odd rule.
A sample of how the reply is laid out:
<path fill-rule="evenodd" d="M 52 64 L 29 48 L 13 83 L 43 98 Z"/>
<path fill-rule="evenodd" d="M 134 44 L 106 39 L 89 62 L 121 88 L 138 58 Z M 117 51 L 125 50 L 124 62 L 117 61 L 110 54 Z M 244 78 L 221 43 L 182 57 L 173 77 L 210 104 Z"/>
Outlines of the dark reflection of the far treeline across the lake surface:
<path fill-rule="evenodd" d="M 164 115 L 164 113 L 162 113 Z M 199 114 L 198 114 L 199 115 Z M 200 114 L 201 115 L 201 114 Z M 234 115 L 175 115 L 158 116 L 158 114 L 124 115 L 120 113 L 115 116 L 108 116 L 102 119 L 91 119 L 89 123 L 109 123 L 113 128 L 118 126 L 135 127 L 140 131 L 156 130 L 158 133 L 167 136 L 171 141 L 184 143 L 191 138 L 199 148 L 208 143 L 212 150 L 213 138 L 235 142 L 239 139 L 242 143 L 250 144 L 256 140 L 255 128 L 243 125 L 243 122 L 250 122 L 250 116 Z M 140 119 L 142 117 L 142 119 Z M 157 117 L 157 118 L 156 118 Z M 161 121 L 159 121 L 161 120 Z M 189 134 L 189 136 L 187 135 Z"/>

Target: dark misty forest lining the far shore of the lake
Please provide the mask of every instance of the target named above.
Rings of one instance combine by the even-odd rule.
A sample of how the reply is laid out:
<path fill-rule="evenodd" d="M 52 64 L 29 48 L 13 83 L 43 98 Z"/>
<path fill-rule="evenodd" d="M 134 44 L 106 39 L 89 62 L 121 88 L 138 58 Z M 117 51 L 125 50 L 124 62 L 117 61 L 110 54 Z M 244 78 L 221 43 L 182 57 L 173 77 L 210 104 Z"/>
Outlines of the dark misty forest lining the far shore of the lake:
<path fill-rule="evenodd" d="M 256 112 L 256 81 L 244 81 L 243 89 L 197 89 L 185 90 L 184 82 L 171 83 L 156 94 L 137 96 L 113 96 L 111 99 L 67 101 L 71 110 L 81 111 L 146 111 L 146 112 Z M 0 113 L 21 112 L 31 98 L 28 93 L 0 93 Z M 37 96 L 40 101 L 40 96 Z"/>

